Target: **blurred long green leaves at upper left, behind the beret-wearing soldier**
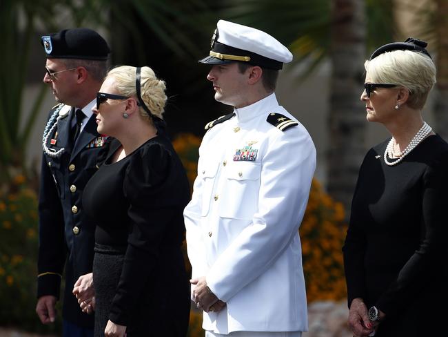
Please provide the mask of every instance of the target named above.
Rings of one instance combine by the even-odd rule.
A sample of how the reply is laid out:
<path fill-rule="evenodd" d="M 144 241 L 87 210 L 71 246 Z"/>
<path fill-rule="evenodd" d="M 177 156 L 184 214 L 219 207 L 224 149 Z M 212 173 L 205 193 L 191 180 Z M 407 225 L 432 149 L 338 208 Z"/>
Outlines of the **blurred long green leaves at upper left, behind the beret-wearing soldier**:
<path fill-rule="evenodd" d="M 5 182 L 14 175 L 10 167 L 24 168 L 26 144 L 43 101 L 45 86 L 42 84 L 28 118 L 21 120 L 30 46 L 37 23 L 45 28 L 54 28 L 55 9 L 48 6 L 48 2 L 0 1 L 3 46 L 0 53 L 0 182 Z"/>

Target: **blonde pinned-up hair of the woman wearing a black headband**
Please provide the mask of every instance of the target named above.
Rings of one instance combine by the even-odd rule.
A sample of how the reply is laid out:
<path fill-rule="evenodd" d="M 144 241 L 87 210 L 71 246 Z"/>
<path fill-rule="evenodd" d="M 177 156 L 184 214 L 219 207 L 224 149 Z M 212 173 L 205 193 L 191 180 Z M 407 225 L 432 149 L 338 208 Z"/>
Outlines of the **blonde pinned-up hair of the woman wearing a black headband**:
<path fill-rule="evenodd" d="M 136 97 L 135 73 L 135 67 L 118 66 L 110 70 L 106 78 L 114 78 L 116 90 L 119 91 L 120 95 Z M 163 119 L 162 115 L 167 101 L 165 90 L 165 82 L 158 79 L 150 67 L 141 68 L 141 99 L 143 99 L 151 113 L 161 119 Z M 140 106 L 139 111 L 142 117 L 151 119 L 142 106 Z"/>

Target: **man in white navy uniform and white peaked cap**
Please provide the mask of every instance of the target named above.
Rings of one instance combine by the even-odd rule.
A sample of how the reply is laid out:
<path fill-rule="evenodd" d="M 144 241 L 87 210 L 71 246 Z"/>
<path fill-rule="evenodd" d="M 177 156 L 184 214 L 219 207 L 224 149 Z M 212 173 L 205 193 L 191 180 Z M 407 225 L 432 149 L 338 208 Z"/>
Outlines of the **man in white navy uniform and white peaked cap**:
<path fill-rule="evenodd" d="M 234 112 L 208 123 L 184 211 L 192 300 L 205 336 L 301 336 L 307 303 L 298 227 L 316 168 L 305 128 L 274 93 L 292 54 L 265 32 L 218 21 L 215 99 Z"/>

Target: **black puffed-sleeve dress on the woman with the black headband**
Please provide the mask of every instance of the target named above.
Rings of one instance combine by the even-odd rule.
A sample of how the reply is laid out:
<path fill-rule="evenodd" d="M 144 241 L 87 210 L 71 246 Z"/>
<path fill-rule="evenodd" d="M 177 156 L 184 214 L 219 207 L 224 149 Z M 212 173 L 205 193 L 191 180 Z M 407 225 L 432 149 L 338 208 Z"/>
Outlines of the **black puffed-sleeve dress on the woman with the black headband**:
<path fill-rule="evenodd" d="M 149 139 L 119 162 L 114 139 L 83 193 L 96 224 L 93 267 L 95 336 L 108 322 L 128 337 L 185 336 L 190 287 L 181 252 L 183 209 L 190 200 L 185 170 L 170 141 Z"/>

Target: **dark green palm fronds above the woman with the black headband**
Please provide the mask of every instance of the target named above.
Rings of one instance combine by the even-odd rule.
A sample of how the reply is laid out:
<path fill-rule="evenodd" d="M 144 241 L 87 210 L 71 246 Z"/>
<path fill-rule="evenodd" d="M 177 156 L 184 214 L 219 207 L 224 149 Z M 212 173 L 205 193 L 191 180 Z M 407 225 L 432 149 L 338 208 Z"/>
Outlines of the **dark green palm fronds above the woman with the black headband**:
<path fill-rule="evenodd" d="M 170 50 L 170 56 L 178 59 L 198 57 L 198 41 L 207 41 L 214 29 L 215 17 L 206 0 L 127 0 L 89 1 L 92 6 L 86 14 L 87 19 L 96 20 L 92 13 L 108 12 L 109 17 L 100 19 L 101 26 L 118 36 L 112 36 L 112 42 L 126 41 L 132 45 L 132 52 L 141 63 L 147 62 L 147 41 L 153 36 Z M 89 13 L 90 12 L 90 13 Z M 130 19 L 134 18 L 134 19 Z M 119 26 L 125 31 L 119 32 Z M 151 36 L 152 35 L 152 36 Z M 199 37 L 199 39 L 198 39 Z M 204 40 L 205 38 L 205 40 Z M 159 48 L 154 46 L 154 48 Z M 129 50 L 114 48 L 113 58 L 123 59 Z"/>

